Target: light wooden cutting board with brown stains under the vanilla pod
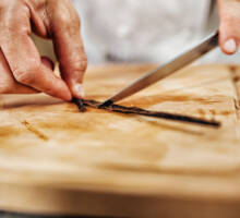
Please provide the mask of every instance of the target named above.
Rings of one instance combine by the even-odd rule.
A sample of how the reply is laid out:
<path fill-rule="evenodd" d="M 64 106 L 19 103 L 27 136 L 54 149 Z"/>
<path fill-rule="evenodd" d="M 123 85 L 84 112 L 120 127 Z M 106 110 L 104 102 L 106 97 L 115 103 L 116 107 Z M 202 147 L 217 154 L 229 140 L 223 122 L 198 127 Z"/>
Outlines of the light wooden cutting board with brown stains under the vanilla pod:
<path fill-rule="evenodd" d="M 89 68 L 104 100 L 152 65 Z M 239 217 L 240 66 L 191 66 L 124 106 L 221 121 L 220 129 L 0 97 L 0 209 L 53 215 Z"/>

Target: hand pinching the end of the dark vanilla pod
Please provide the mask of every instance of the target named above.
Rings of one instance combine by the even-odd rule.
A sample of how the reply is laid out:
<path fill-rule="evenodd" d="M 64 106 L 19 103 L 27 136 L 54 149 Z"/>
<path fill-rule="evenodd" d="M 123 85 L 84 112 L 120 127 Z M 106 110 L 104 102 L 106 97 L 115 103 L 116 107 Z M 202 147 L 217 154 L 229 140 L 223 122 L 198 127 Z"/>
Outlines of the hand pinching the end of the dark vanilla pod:
<path fill-rule="evenodd" d="M 87 60 L 71 0 L 1 0 L 0 10 L 0 94 L 81 98 Z M 32 32 L 52 39 L 62 78 L 40 57 Z"/>

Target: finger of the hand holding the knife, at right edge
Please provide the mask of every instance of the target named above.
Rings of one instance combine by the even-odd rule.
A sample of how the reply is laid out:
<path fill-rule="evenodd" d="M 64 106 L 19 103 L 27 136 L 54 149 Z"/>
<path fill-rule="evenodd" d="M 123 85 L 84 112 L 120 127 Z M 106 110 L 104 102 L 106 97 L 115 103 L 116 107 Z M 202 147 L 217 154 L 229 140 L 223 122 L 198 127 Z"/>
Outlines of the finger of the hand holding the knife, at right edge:
<path fill-rule="evenodd" d="M 240 1 L 218 0 L 220 16 L 221 50 L 227 55 L 237 52 L 240 44 Z"/>

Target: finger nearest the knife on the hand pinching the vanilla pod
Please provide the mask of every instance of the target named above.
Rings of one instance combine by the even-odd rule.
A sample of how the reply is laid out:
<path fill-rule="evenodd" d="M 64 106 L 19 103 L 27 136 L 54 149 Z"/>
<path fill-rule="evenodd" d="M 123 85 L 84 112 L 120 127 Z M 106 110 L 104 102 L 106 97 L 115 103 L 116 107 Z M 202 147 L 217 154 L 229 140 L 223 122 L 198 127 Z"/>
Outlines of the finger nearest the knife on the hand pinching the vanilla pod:
<path fill-rule="evenodd" d="M 82 98 L 84 95 L 82 82 L 87 68 L 87 58 L 81 37 L 80 19 L 71 5 L 68 4 L 62 10 L 58 10 L 51 21 L 55 50 L 63 80 L 72 95 Z"/>

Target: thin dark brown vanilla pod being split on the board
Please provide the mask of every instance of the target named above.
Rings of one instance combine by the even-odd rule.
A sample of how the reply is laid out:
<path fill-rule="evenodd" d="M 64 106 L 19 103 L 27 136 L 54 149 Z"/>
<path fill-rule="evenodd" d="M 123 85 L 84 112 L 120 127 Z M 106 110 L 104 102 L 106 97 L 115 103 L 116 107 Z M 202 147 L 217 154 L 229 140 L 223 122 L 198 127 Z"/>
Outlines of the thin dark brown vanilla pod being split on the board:
<path fill-rule="evenodd" d="M 99 109 L 98 107 L 100 105 L 100 102 L 98 101 L 84 100 L 84 99 L 74 99 L 73 102 L 79 107 L 80 111 L 85 111 L 86 107 Z M 213 121 L 213 120 L 209 121 L 209 120 L 204 120 L 204 119 L 189 117 L 189 116 L 151 111 L 151 110 L 145 110 L 142 108 L 124 107 L 124 106 L 119 106 L 115 104 L 108 105 L 100 109 L 112 111 L 112 112 L 124 113 L 124 114 L 139 114 L 139 116 L 153 117 L 153 118 L 159 118 L 159 119 L 166 119 L 166 120 L 172 120 L 172 121 L 179 121 L 179 122 L 187 122 L 187 123 L 192 123 L 192 124 L 208 125 L 208 126 L 214 126 L 214 128 L 220 126 L 219 122 Z"/>

